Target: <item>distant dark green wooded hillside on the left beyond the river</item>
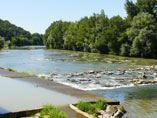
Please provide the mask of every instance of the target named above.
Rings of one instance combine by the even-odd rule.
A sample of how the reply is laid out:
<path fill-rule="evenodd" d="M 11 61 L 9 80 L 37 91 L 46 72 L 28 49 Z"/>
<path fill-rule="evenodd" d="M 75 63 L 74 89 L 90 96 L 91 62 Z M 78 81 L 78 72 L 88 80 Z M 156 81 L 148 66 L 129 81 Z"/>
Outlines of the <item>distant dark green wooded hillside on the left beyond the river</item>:
<path fill-rule="evenodd" d="M 5 45 L 24 46 L 24 45 L 43 45 L 43 35 L 34 33 L 17 27 L 9 21 L 0 19 L 0 48 Z"/>

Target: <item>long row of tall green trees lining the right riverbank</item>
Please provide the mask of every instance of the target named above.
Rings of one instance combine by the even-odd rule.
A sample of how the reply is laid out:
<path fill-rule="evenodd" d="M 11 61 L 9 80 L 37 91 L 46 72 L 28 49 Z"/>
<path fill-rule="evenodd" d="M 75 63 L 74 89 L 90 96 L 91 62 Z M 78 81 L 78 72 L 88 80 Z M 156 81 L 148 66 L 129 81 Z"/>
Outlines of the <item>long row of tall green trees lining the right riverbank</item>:
<path fill-rule="evenodd" d="M 47 48 L 157 58 L 157 0 L 126 0 L 126 18 L 99 14 L 77 22 L 55 21 L 44 34 Z"/>

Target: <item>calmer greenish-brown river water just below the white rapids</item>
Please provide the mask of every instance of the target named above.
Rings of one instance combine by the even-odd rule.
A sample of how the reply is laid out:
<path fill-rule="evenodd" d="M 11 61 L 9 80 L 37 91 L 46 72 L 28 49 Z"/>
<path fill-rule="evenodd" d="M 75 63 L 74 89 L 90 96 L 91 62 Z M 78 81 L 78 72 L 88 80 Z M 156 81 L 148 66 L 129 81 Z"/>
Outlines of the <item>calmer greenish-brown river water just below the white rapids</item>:
<path fill-rule="evenodd" d="M 121 101 L 130 118 L 157 118 L 156 85 L 92 92 Z"/>

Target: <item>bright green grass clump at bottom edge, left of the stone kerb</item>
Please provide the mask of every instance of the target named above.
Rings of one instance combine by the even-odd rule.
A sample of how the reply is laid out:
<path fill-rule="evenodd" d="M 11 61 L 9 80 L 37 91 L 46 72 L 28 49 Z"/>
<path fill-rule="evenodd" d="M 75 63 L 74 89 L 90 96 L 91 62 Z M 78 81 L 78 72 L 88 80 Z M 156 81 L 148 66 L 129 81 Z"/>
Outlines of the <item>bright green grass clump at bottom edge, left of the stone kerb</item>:
<path fill-rule="evenodd" d="M 44 105 L 43 110 L 41 111 L 40 118 L 67 118 L 67 115 L 62 113 L 57 107 L 52 105 Z"/>

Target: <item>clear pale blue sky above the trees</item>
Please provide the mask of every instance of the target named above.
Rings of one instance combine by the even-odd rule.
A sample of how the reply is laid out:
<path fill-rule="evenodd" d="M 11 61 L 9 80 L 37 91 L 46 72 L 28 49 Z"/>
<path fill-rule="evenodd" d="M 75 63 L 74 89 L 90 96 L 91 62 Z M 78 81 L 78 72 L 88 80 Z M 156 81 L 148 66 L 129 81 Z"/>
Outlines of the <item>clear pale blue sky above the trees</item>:
<path fill-rule="evenodd" d="M 78 21 L 102 9 L 109 18 L 115 15 L 124 18 L 127 16 L 124 3 L 125 0 L 0 0 L 0 19 L 31 33 L 44 34 L 54 21 Z"/>

